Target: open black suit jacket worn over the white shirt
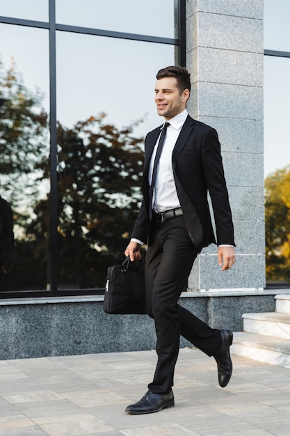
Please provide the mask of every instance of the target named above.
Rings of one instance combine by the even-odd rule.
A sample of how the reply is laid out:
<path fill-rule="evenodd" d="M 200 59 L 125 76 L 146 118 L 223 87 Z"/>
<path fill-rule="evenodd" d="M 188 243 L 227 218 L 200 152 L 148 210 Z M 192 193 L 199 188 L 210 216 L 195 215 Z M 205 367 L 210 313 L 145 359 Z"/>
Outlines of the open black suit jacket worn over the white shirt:
<path fill-rule="evenodd" d="M 131 238 L 150 244 L 149 182 L 150 159 L 160 126 L 147 134 L 143 169 L 143 201 Z M 232 212 L 220 155 L 218 134 L 209 125 L 186 118 L 172 152 L 175 186 L 184 220 L 195 247 L 216 243 L 207 194 L 211 196 L 217 243 L 234 245 Z"/>

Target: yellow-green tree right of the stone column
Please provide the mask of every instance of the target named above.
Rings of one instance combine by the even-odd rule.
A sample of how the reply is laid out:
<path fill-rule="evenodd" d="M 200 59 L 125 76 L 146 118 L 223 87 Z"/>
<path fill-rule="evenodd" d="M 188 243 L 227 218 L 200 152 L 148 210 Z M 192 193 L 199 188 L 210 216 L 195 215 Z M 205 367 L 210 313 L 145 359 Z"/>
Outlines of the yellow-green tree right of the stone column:
<path fill-rule="evenodd" d="M 265 181 L 266 279 L 290 281 L 290 166 Z"/>

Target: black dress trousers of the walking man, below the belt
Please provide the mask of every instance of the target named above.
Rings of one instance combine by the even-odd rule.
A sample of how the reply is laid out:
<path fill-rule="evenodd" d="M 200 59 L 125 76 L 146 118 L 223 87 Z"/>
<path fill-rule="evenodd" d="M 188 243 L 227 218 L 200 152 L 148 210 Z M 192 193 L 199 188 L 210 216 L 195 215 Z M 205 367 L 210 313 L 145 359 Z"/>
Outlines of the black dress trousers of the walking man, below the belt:
<path fill-rule="evenodd" d="M 154 318 L 158 361 L 153 382 L 155 394 L 166 394 L 173 386 L 180 335 L 207 355 L 220 348 L 220 331 L 212 329 L 177 304 L 193 262 L 200 253 L 189 238 L 184 217 L 152 222 L 150 246 L 145 259 L 147 313 Z"/>

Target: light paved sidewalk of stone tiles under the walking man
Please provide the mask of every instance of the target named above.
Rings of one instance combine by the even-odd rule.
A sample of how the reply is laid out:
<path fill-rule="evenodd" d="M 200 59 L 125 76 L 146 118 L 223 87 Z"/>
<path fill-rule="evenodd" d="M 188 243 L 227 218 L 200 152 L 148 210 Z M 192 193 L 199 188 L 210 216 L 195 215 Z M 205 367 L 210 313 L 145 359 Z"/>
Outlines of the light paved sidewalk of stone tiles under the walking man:
<path fill-rule="evenodd" d="M 214 359 L 180 350 L 175 407 L 124 408 L 147 390 L 155 352 L 0 361 L 1 436 L 290 435 L 290 369 L 232 356 L 229 385 Z"/>

